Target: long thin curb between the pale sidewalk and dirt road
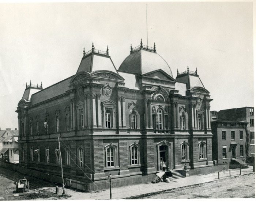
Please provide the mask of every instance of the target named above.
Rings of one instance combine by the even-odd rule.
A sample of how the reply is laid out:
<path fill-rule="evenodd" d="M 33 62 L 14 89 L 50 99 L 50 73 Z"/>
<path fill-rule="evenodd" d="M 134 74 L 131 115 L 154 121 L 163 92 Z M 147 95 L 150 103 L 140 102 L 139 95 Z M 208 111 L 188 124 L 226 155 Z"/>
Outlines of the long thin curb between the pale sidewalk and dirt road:
<path fill-rule="evenodd" d="M 245 174 L 242 174 L 242 175 L 250 175 L 250 174 L 255 174 L 255 173 L 254 172 L 245 173 Z M 233 178 L 233 177 L 237 177 L 237 176 L 241 176 L 241 175 L 235 175 L 235 176 L 226 177 L 226 178 L 222 178 L 222 179 Z M 218 181 L 218 180 L 222 180 L 222 179 L 215 179 L 215 180 L 212 180 L 212 181 L 209 181 L 209 182 L 214 182 L 214 181 Z M 147 196 L 151 196 L 151 195 L 155 195 L 155 194 L 160 194 L 164 191 L 171 191 L 171 190 L 174 190 L 174 189 L 179 189 L 179 188 L 184 188 L 184 187 L 189 187 L 189 186 L 194 186 L 194 185 L 202 185 L 204 183 L 209 183 L 209 182 L 202 182 L 202 183 L 197 183 L 197 184 L 193 184 L 193 185 L 174 187 L 174 188 L 171 188 L 171 189 L 165 189 L 165 190 L 161 190 L 161 191 L 154 191 L 154 192 L 150 192 L 150 193 L 146 193 L 146 194 L 139 194 L 139 195 L 135 195 L 135 196 L 131 196 L 131 197 L 117 198 L 117 199 L 138 199 L 139 197 L 147 197 Z"/>

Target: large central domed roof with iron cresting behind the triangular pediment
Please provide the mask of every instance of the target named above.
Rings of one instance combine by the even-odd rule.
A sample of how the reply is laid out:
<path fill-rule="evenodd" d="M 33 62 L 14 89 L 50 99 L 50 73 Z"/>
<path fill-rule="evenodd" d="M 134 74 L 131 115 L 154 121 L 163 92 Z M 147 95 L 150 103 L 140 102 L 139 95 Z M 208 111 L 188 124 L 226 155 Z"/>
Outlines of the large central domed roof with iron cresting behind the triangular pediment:
<path fill-rule="evenodd" d="M 134 74 L 145 74 L 155 70 L 163 70 L 173 77 L 172 70 L 167 62 L 155 52 L 155 49 L 147 49 L 140 47 L 134 51 L 131 49 L 131 54 L 120 65 L 118 71 L 129 72 Z"/>

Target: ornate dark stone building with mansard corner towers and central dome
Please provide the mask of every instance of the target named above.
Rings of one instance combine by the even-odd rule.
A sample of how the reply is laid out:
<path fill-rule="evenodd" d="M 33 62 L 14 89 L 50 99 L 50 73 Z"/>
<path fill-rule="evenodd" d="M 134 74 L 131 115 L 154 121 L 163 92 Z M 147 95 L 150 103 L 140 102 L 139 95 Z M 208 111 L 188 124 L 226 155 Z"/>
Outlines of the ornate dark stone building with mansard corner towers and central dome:
<path fill-rule="evenodd" d="M 18 103 L 20 166 L 60 175 L 84 190 L 149 182 L 156 171 L 203 173 L 212 163 L 210 95 L 197 70 L 177 71 L 156 47 L 132 48 L 116 69 L 109 50 L 83 53 L 75 75 Z M 121 178 L 118 181 L 117 178 Z"/>

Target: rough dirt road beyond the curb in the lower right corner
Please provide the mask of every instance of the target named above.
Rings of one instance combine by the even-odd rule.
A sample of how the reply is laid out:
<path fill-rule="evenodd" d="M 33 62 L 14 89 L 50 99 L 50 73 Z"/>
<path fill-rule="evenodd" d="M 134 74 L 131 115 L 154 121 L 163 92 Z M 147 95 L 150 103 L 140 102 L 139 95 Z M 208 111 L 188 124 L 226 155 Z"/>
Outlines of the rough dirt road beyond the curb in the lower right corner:
<path fill-rule="evenodd" d="M 177 188 L 138 199 L 168 198 L 255 198 L 255 174 Z"/>

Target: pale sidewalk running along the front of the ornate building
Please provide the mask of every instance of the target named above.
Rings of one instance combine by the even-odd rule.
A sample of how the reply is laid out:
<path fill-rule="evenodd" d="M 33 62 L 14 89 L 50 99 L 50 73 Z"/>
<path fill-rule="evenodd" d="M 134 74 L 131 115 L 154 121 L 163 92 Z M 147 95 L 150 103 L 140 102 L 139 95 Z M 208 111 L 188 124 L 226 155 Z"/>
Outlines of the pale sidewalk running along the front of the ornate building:
<path fill-rule="evenodd" d="M 242 169 L 241 175 L 253 173 L 252 166 L 249 166 L 248 169 Z M 231 170 L 231 177 L 240 175 L 240 170 Z M 220 173 L 220 179 L 229 177 L 229 170 L 223 171 Z M 136 195 L 148 194 L 159 192 L 163 190 L 169 190 L 178 187 L 184 187 L 189 185 L 196 185 L 204 182 L 211 182 L 218 180 L 218 172 L 210 174 L 201 174 L 201 175 L 192 175 L 186 178 L 178 178 L 171 180 L 170 183 L 160 182 L 157 184 L 145 183 L 138 185 L 129 185 L 123 187 L 114 187 L 112 188 L 112 199 L 121 199 L 132 197 Z M 109 199 L 109 189 L 95 191 L 95 193 L 82 193 L 75 190 L 67 189 L 67 194 L 72 195 L 68 199 Z"/>

